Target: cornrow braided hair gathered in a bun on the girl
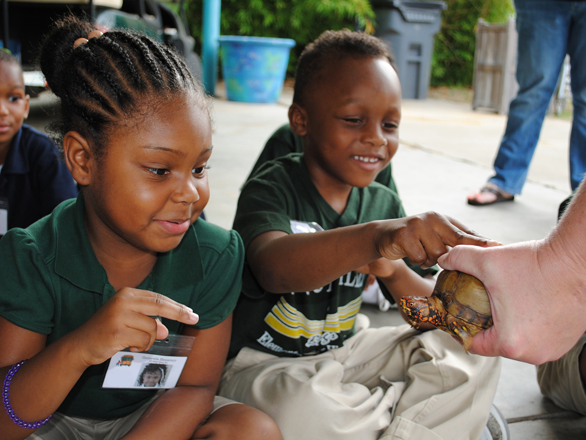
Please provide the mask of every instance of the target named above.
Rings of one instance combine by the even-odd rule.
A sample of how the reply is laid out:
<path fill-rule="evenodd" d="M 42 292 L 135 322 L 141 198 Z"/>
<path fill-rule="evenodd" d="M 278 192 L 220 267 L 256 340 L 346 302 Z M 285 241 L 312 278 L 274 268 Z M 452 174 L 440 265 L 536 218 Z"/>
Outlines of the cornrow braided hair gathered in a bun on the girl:
<path fill-rule="evenodd" d="M 41 70 L 61 101 L 60 119 L 51 127 L 57 145 L 67 131 L 77 131 L 93 141 L 100 157 L 108 133 L 156 107 L 157 100 L 193 94 L 207 110 L 203 87 L 178 53 L 128 31 L 105 32 L 73 47 L 93 30 L 68 15 L 54 23 L 41 47 Z"/>

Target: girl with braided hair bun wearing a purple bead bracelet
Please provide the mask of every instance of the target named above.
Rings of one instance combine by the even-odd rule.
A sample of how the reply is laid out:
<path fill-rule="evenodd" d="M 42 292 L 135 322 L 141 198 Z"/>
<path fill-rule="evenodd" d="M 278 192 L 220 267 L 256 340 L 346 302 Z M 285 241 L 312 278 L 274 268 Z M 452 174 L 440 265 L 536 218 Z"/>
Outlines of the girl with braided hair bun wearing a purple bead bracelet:
<path fill-rule="evenodd" d="M 198 219 L 212 153 L 202 87 L 165 46 L 74 16 L 47 36 L 41 68 L 82 189 L 0 241 L 2 438 L 280 439 L 267 415 L 214 398 L 244 255 L 236 232 Z M 168 333 L 196 337 L 178 386 L 101 387 L 115 353 Z"/>

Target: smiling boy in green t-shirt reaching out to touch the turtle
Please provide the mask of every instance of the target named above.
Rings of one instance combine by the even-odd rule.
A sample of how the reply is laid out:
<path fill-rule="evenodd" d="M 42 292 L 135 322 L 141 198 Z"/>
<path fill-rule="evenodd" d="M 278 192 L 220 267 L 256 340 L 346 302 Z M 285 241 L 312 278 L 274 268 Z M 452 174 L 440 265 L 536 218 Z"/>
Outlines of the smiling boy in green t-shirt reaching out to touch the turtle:
<path fill-rule="evenodd" d="M 271 415 L 285 440 L 478 440 L 499 360 L 468 356 L 441 330 L 369 329 L 366 273 L 398 299 L 430 295 L 446 245 L 496 245 L 435 213 L 402 218 L 373 182 L 398 146 L 398 76 L 379 39 L 322 34 L 295 76 L 289 124 L 303 153 L 268 161 L 234 219 L 246 249 L 220 395 Z M 417 252 L 415 252 L 417 251 Z M 427 255 L 426 255 L 427 254 Z"/>

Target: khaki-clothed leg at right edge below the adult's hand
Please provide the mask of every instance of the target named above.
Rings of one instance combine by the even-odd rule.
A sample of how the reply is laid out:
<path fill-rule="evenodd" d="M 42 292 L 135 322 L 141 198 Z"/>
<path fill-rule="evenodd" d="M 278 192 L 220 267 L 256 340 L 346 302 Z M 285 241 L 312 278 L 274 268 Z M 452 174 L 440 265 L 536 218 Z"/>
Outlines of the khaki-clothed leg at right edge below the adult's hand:
<path fill-rule="evenodd" d="M 586 345 L 586 334 L 557 361 L 537 365 L 541 392 L 561 408 L 586 415 L 586 392 L 578 369 L 578 357 Z"/>

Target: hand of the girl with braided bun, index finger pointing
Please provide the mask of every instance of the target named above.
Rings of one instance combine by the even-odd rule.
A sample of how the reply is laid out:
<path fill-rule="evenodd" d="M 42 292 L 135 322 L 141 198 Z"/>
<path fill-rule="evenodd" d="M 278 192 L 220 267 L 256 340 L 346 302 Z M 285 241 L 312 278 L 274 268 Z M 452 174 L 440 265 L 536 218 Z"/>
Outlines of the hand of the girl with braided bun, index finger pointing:
<path fill-rule="evenodd" d="M 153 316 L 195 324 L 199 317 L 183 304 L 149 290 L 123 287 L 78 329 L 75 340 L 84 363 L 101 364 L 117 351 L 148 350 L 169 331 Z"/>

